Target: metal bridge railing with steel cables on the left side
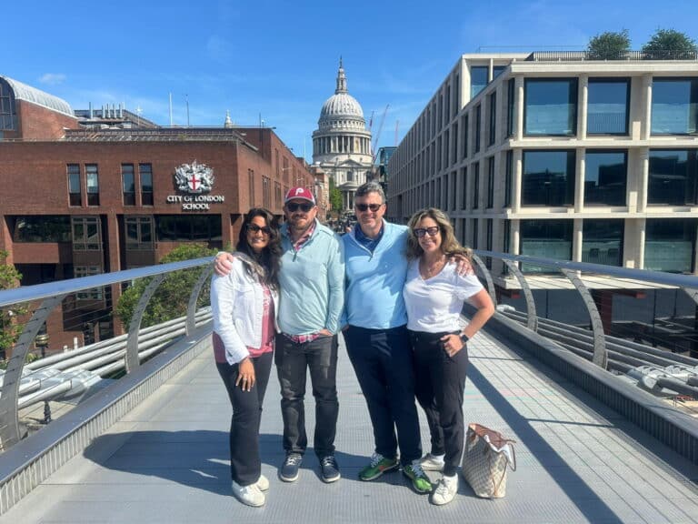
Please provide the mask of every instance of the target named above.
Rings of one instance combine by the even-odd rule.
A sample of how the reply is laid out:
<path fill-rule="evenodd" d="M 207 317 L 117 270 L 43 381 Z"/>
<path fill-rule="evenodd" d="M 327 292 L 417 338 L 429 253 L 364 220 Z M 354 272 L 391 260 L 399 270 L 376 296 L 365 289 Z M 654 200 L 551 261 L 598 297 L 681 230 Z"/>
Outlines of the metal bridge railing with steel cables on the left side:
<path fill-rule="evenodd" d="M 21 415 L 36 404 L 44 403 L 41 424 L 47 424 L 55 416 L 55 403 L 75 405 L 208 322 L 208 293 L 202 291 L 210 276 L 211 258 L 206 257 L 0 291 L 0 310 L 25 312 L 12 317 L 12 326 L 0 326 L 21 329 L 15 345 L 5 348 L 9 357 L 0 371 L 0 448 L 23 438 Z M 115 309 L 129 287 L 135 292 L 126 309 L 128 326 L 125 334 L 114 336 L 122 330 Z M 88 325 L 111 336 L 82 348 L 51 351 L 47 322 L 58 331 Z"/>

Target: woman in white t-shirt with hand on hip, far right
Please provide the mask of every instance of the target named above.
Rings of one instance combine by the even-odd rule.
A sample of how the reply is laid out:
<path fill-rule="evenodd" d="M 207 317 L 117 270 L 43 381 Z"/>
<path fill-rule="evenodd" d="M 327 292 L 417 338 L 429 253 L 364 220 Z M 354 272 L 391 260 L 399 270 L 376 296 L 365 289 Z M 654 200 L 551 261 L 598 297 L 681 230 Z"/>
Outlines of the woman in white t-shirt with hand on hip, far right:
<path fill-rule="evenodd" d="M 424 408 L 432 434 L 432 450 L 423 469 L 442 469 L 444 477 L 431 495 L 433 504 L 447 504 L 458 491 L 456 469 L 463 454 L 463 397 L 468 365 L 466 343 L 494 314 L 494 304 L 474 275 L 458 275 L 449 257 L 470 256 L 458 244 L 454 227 L 440 209 L 418 211 L 410 219 L 404 284 L 407 328 L 415 361 L 415 395 Z M 464 301 L 477 308 L 462 328 Z"/>

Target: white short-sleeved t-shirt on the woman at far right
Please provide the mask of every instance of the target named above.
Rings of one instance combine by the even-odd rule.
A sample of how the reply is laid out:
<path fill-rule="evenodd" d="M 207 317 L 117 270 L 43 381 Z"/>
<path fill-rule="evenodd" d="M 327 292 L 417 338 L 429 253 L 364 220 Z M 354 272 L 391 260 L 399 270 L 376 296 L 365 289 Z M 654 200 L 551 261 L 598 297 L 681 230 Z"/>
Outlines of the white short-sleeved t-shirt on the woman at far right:
<path fill-rule="evenodd" d="M 404 283 L 407 328 L 440 333 L 461 329 L 464 301 L 483 288 L 474 275 L 460 276 L 455 264 L 446 264 L 434 277 L 419 274 L 419 260 L 410 261 Z"/>

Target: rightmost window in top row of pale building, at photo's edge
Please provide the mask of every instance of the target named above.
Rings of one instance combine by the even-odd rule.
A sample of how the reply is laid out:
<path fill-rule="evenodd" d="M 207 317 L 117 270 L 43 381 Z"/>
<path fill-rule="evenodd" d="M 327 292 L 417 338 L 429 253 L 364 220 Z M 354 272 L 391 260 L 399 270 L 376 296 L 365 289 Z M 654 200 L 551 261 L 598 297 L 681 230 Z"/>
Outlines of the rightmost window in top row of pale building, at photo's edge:
<path fill-rule="evenodd" d="M 698 78 L 654 78 L 652 134 L 693 135 L 698 121 Z"/>

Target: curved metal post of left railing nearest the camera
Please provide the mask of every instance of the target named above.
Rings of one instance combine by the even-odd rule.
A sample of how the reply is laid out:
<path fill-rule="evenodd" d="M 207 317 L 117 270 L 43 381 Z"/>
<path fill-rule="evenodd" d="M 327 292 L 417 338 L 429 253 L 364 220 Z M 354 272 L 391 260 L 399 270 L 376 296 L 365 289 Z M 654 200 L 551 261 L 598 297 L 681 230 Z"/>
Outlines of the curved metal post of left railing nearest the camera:
<path fill-rule="evenodd" d="M 65 295 L 46 298 L 41 306 L 35 310 L 15 344 L 12 358 L 7 363 L 3 387 L 0 389 L 0 443 L 3 449 L 15 445 L 20 439 L 17 402 L 19 400 L 19 382 L 22 378 L 22 369 L 25 367 L 26 354 L 49 313 L 63 301 Z"/>

